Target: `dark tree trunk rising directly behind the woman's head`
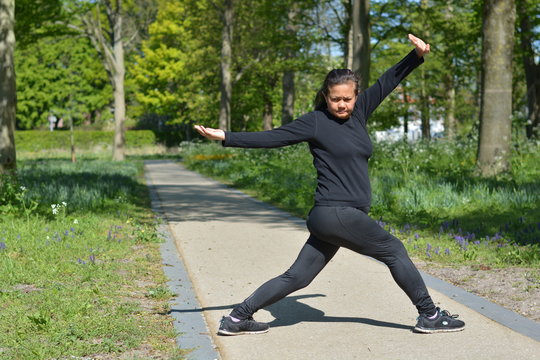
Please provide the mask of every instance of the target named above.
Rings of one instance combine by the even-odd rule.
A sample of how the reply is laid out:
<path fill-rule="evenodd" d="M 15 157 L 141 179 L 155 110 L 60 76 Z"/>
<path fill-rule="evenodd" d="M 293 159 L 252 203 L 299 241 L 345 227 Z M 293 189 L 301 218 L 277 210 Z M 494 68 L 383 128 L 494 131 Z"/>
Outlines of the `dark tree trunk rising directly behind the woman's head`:
<path fill-rule="evenodd" d="M 355 0 L 353 3 L 353 66 L 360 76 L 360 90 L 369 86 L 370 68 L 370 23 L 369 0 Z"/>

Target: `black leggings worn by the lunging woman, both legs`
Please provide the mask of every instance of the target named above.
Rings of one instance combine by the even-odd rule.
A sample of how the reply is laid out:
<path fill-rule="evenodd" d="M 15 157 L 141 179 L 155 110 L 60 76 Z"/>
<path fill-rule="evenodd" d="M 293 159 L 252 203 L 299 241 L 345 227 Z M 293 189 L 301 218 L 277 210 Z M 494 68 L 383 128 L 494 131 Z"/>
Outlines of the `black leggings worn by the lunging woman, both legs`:
<path fill-rule="evenodd" d="M 396 283 L 421 314 L 434 314 L 435 305 L 420 273 L 399 239 L 367 215 L 367 209 L 315 206 L 308 217 L 309 239 L 284 274 L 267 281 L 231 315 L 247 319 L 257 310 L 309 285 L 343 246 L 373 257 L 388 266 Z"/>

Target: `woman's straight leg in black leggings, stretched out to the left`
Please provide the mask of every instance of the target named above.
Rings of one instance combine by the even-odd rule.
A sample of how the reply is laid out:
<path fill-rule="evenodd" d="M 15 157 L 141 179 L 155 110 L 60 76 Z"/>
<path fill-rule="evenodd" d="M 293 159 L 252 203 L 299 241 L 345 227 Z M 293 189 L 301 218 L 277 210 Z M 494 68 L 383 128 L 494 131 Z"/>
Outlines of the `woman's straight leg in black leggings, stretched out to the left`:
<path fill-rule="evenodd" d="M 332 245 L 310 235 L 298 258 L 282 275 L 267 281 L 231 312 L 231 316 L 244 320 L 262 309 L 284 298 L 293 291 L 311 283 L 317 274 L 335 255 L 339 246 Z"/>

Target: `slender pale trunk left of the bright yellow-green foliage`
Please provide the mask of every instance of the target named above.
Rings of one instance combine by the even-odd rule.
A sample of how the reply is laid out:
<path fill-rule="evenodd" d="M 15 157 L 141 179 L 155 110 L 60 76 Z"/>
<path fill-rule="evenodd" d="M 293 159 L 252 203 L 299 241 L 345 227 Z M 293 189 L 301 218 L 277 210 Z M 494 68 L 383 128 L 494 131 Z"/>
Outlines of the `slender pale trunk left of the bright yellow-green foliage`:
<path fill-rule="evenodd" d="M 122 161 L 125 158 L 125 129 L 126 119 L 126 97 L 124 93 L 125 66 L 124 66 L 124 44 L 122 41 L 122 14 L 121 1 L 118 2 L 117 18 L 113 28 L 113 53 L 114 53 L 114 144 L 113 160 Z"/>

